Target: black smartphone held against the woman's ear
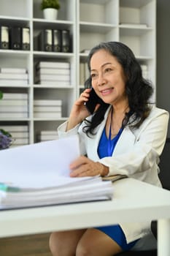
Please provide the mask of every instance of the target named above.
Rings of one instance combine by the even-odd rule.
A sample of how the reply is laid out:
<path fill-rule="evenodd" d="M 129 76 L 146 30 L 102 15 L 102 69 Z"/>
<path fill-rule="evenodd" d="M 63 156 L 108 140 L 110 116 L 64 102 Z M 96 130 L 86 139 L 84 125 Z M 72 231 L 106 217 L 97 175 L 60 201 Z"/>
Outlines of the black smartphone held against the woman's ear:
<path fill-rule="evenodd" d="M 90 78 L 88 78 L 88 80 L 85 81 L 85 88 L 92 88 L 91 83 L 90 83 Z M 94 110 L 96 108 L 96 105 L 97 104 L 102 104 L 102 103 L 104 103 L 103 100 L 100 97 L 98 97 L 98 95 L 96 94 L 96 92 L 92 88 L 91 91 L 90 91 L 90 97 L 88 99 L 88 102 L 85 102 L 86 108 L 88 108 L 88 111 L 91 114 L 93 114 Z"/>

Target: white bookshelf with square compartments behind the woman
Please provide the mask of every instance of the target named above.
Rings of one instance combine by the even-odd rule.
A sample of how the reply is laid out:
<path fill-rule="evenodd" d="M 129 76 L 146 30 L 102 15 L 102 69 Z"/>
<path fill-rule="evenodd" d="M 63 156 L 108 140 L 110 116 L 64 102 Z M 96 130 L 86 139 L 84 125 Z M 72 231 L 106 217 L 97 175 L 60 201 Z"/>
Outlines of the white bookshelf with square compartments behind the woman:
<path fill-rule="evenodd" d="M 88 50 L 98 42 L 115 40 L 127 44 L 144 67 L 146 77 L 156 84 L 155 0 L 62 0 L 57 20 L 43 18 L 40 0 L 0 0 L 0 4 L 1 26 L 30 29 L 28 50 L 0 49 L 0 68 L 24 68 L 28 73 L 28 84 L 0 83 L 4 93 L 28 95 L 28 117 L 1 118 L 0 127 L 28 127 L 28 143 L 36 143 L 43 131 L 55 131 L 69 116 L 88 75 L 85 69 Z M 69 52 L 39 49 L 38 35 L 48 29 L 69 31 L 72 42 Z M 69 83 L 36 83 L 36 66 L 41 61 L 69 63 Z M 34 116 L 34 100 L 38 99 L 60 100 L 61 117 Z"/>

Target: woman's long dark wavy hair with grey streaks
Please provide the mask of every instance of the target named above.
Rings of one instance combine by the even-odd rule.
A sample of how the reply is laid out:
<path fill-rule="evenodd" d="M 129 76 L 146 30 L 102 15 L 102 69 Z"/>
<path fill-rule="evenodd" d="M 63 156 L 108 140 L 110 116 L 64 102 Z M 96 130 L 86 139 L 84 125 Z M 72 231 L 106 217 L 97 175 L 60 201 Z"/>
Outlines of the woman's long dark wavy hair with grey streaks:
<path fill-rule="evenodd" d="M 106 50 L 123 67 L 125 76 L 128 78 L 125 84 L 125 93 L 128 97 L 130 108 L 130 111 L 125 114 L 125 118 L 123 119 L 123 127 L 129 124 L 134 129 L 139 128 L 144 119 L 150 114 L 150 105 L 148 103 L 153 92 L 152 84 L 149 80 L 145 80 L 142 77 L 142 69 L 134 53 L 122 42 L 101 42 L 92 48 L 88 55 L 89 72 L 90 60 L 98 50 Z M 85 87 L 87 87 L 87 83 L 90 83 L 90 78 L 85 82 Z M 101 104 L 96 113 L 93 114 L 91 121 L 85 121 L 86 126 L 84 127 L 84 131 L 87 135 L 95 134 L 94 129 L 104 120 L 104 114 L 107 108 L 109 108 L 107 103 Z"/>

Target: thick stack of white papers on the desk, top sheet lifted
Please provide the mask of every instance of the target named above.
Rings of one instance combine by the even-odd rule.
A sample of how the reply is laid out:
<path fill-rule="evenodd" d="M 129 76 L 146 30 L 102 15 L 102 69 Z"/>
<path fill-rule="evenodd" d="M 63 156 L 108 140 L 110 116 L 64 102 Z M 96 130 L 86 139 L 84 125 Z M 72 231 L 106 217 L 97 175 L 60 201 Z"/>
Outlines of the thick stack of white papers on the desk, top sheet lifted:
<path fill-rule="evenodd" d="M 112 199 L 112 182 L 70 178 L 77 135 L 0 151 L 0 209 Z"/>

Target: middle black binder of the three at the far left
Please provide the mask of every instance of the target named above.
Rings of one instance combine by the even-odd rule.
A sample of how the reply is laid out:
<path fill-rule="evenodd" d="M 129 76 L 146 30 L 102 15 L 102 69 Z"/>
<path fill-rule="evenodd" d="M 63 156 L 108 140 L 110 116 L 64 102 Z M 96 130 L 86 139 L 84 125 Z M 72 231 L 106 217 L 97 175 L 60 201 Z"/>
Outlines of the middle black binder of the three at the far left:
<path fill-rule="evenodd" d="M 21 28 L 20 27 L 12 27 L 10 29 L 10 48 L 13 50 L 21 49 Z"/>

